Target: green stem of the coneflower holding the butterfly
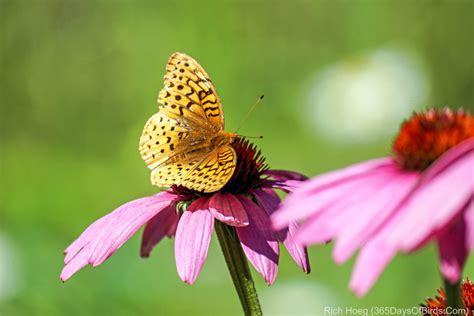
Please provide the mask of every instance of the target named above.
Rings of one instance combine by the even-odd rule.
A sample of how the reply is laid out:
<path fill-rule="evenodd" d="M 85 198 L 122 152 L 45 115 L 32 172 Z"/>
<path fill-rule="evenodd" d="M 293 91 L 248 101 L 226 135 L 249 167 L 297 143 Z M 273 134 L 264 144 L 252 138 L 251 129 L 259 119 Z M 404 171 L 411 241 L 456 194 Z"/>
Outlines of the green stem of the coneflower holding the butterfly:
<path fill-rule="evenodd" d="M 216 221 L 215 229 L 245 315 L 262 315 L 247 258 L 235 229 L 219 221 Z"/>

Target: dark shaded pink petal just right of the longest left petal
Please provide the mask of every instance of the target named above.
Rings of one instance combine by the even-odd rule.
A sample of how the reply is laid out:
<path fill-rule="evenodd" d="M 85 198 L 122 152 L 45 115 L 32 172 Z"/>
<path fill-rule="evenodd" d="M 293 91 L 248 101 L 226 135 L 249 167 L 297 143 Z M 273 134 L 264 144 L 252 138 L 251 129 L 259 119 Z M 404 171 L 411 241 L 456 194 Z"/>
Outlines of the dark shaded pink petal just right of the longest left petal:
<path fill-rule="evenodd" d="M 179 216 L 176 213 L 175 205 L 170 205 L 146 223 L 142 235 L 140 256 L 149 257 L 161 239 L 165 236 L 174 236 L 178 220 Z"/>

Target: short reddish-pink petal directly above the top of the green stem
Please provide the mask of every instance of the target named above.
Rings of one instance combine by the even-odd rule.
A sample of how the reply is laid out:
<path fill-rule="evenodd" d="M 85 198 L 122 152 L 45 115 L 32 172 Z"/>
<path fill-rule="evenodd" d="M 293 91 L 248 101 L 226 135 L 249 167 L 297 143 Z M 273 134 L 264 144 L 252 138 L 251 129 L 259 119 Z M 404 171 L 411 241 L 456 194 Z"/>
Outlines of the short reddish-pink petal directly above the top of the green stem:
<path fill-rule="evenodd" d="M 215 193 L 209 201 L 209 210 L 218 220 L 231 226 L 247 226 L 247 212 L 239 199 L 230 193 Z"/>

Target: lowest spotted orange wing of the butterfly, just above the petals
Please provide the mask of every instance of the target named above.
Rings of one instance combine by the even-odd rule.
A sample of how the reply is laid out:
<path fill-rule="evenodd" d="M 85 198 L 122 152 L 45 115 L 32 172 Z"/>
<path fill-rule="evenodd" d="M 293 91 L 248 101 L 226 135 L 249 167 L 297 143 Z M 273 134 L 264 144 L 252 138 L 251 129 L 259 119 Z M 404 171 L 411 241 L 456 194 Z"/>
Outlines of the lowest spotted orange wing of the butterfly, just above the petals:
<path fill-rule="evenodd" d="M 181 159 L 152 171 L 153 184 L 169 187 L 182 185 L 200 192 L 215 192 L 221 189 L 235 171 L 237 155 L 231 146 L 215 149 L 204 159 L 198 157 Z"/>

